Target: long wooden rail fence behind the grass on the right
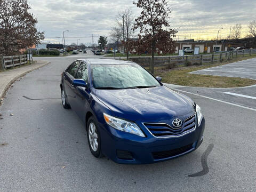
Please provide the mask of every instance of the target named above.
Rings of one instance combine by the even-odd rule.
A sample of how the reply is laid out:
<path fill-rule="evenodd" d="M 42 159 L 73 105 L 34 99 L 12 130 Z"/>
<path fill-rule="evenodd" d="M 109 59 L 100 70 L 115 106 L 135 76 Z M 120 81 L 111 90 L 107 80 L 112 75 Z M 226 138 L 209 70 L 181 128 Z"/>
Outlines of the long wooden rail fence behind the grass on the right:
<path fill-rule="evenodd" d="M 189 65 L 203 65 L 203 63 L 214 63 L 228 61 L 236 57 L 245 57 L 248 55 L 255 55 L 256 49 L 227 51 L 214 54 L 198 54 L 185 56 L 169 56 L 169 57 L 155 57 L 154 66 L 174 68 L 175 66 L 189 66 Z M 130 57 L 130 61 L 136 62 L 143 67 L 149 67 L 151 57 Z"/>

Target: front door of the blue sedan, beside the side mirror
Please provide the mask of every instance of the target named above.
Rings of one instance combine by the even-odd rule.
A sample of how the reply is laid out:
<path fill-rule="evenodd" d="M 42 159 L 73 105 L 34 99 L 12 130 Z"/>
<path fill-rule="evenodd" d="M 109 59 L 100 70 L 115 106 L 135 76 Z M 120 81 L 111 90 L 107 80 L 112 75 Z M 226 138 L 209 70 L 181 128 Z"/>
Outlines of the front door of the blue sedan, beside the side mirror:
<path fill-rule="evenodd" d="M 87 87 L 74 86 L 75 92 L 75 108 L 77 115 L 85 121 L 85 114 L 89 110 L 90 103 L 89 100 L 91 98 L 90 90 L 89 90 L 89 81 L 88 81 L 88 70 L 85 62 L 81 61 L 81 65 L 77 69 L 76 79 L 84 79 L 87 83 Z"/>

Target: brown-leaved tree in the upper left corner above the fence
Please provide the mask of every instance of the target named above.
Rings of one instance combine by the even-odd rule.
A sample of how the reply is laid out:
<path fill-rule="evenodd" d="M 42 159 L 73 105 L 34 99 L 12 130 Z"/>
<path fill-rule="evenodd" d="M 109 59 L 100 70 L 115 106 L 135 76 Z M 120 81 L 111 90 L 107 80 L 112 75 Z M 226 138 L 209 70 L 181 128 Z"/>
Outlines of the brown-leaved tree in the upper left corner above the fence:
<path fill-rule="evenodd" d="M 0 0 L 0 7 L 0 54 L 15 54 L 44 39 L 27 0 Z"/>

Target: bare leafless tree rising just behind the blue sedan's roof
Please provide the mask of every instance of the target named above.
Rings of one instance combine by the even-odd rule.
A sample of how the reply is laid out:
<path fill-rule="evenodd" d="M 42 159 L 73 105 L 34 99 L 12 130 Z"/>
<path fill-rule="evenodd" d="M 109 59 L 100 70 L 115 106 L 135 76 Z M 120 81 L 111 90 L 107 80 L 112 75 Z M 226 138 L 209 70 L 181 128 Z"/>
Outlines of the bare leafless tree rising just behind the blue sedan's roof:
<path fill-rule="evenodd" d="M 131 8 L 127 8 L 120 11 L 116 17 L 116 23 L 121 33 L 122 43 L 124 45 L 124 51 L 126 52 L 126 58 L 129 57 L 129 47 L 131 45 L 131 38 L 134 35 L 134 15 Z"/>

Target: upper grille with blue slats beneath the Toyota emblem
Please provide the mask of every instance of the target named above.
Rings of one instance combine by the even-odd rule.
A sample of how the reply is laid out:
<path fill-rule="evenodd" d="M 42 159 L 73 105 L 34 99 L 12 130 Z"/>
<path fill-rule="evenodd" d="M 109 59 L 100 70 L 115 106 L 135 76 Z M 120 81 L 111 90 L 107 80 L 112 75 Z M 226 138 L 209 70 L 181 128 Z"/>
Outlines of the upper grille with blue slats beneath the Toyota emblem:
<path fill-rule="evenodd" d="M 187 133 L 196 126 L 196 116 L 193 115 L 185 121 L 182 121 L 182 126 L 179 129 L 174 129 L 172 126 L 166 123 L 143 123 L 147 129 L 155 136 L 159 138 L 178 136 L 180 134 Z"/>

